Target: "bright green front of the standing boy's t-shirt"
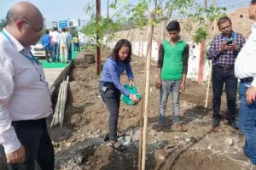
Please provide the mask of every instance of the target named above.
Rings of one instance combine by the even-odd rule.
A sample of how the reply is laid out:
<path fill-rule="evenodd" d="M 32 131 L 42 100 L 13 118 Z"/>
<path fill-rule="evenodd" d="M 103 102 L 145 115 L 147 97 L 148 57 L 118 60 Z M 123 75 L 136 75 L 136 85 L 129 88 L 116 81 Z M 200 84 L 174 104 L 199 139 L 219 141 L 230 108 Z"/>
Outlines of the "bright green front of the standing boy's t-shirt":
<path fill-rule="evenodd" d="M 180 40 L 174 46 L 168 41 L 162 42 L 164 47 L 163 67 L 161 79 L 180 80 L 183 77 L 183 51 L 187 46 L 186 42 Z"/>

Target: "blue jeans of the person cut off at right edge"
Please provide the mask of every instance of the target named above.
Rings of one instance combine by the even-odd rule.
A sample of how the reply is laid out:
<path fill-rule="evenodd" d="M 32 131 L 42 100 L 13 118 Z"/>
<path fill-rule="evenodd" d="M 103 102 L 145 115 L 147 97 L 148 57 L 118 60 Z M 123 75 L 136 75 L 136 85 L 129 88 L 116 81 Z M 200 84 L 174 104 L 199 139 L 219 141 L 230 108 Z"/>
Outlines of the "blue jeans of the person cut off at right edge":
<path fill-rule="evenodd" d="M 250 85 L 251 82 L 241 82 L 239 86 L 240 111 L 238 126 L 246 139 L 243 147 L 244 153 L 256 165 L 256 102 L 248 105 L 246 99 L 247 89 Z"/>

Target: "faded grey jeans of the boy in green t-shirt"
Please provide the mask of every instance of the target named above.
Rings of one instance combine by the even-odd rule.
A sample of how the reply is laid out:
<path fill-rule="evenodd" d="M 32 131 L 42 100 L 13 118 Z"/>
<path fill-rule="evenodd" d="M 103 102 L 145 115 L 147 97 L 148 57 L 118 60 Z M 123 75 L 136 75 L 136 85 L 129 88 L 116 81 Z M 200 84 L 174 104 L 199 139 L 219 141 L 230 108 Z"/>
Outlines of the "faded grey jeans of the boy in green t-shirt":
<path fill-rule="evenodd" d="M 181 80 L 162 80 L 162 86 L 160 88 L 160 114 L 159 122 L 164 122 L 166 117 L 166 103 L 168 101 L 169 94 L 172 94 L 172 122 L 179 122 L 179 88 Z"/>

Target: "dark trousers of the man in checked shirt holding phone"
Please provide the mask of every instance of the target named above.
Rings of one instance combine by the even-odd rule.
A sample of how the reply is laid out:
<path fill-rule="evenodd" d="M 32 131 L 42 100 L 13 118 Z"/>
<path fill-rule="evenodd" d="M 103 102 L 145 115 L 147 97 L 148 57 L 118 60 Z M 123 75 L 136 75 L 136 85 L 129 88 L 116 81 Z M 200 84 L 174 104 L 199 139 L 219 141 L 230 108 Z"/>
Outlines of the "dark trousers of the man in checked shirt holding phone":
<path fill-rule="evenodd" d="M 234 68 L 225 71 L 217 66 L 212 67 L 212 91 L 213 91 L 213 118 L 220 119 L 219 114 L 221 105 L 221 96 L 225 84 L 225 92 L 227 96 L 228 114 L 226 119 L 234 120 L 236 114 L 236 90 L 237 78 L 235 77 Z"/>

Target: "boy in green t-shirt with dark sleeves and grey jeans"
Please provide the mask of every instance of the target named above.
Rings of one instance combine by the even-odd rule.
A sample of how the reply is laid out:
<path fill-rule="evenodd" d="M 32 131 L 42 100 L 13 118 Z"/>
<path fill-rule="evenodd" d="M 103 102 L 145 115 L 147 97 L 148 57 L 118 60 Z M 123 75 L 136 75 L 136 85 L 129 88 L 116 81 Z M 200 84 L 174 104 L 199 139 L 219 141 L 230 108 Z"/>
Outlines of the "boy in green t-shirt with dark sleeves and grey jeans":
<path fill-rule="evenodd" d="M 189 45 L 183 42 L 180 26 L 177 21 L 171 21 L 166 30 L 169 41 L 160 44 L 158 59 L 158 79 L 156 86 L 160 88 L 160 127 L 166 123 L 166 103 L 172 94 L 172 129 L 185 132 L 187 129 L 179 123 L 179 95 L 185 90 L 188 72 Z"/>

